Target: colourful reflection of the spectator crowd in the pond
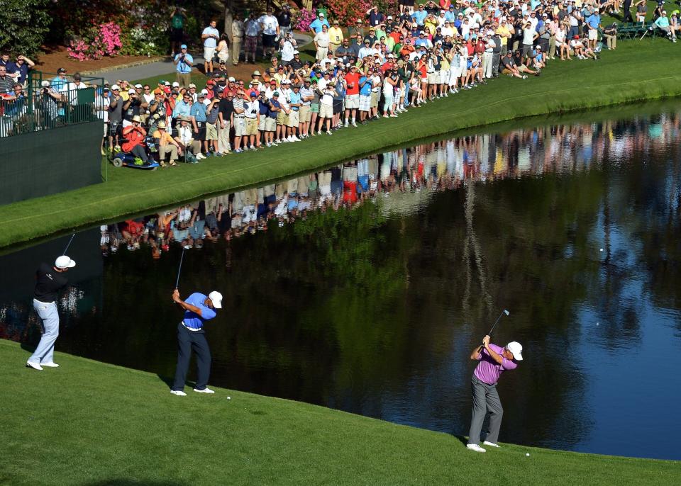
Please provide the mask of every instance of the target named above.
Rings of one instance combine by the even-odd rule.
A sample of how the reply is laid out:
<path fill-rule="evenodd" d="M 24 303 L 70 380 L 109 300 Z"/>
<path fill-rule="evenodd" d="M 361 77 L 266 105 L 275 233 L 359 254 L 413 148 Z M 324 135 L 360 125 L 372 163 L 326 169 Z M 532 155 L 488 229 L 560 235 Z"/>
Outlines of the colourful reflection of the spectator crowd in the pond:
<path fill-rule="evenodd" d="M 399 193 L 443 191 L 470 181 L 569 172 L 663 147 L 678 136 L 677 113 L 591 125 L 554 125 L 472 135 L 384 152 L 260 188 L 199 200 L 155 215 L 101 226 L 106 256 L 121 247 L 150 249 L 160 258 L 171 244 L 200 249 L 305 218 L 310 211 L 352 208 Z M 394 196 L 393 196 L 394 195 Z"/>

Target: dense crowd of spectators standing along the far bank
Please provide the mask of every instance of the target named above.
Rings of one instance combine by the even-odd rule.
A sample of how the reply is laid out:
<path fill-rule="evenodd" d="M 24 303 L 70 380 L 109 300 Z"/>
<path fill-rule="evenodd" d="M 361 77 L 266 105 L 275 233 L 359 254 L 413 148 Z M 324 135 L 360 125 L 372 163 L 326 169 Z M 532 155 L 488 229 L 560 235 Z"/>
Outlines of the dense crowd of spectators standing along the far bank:
<path fill-rule="evenodd" d="M 192 84 L 194 57 L 182 44 L 173 53 L 174 82 L 106 86 L 103 118 L 114 127 L 109 132 L 114 147 L 125 140 L 123 130 L 135 117 L 143 129 L 162 135 L 155 137 L 162 166 L 175 164 L 183 153 L 194 162 L 333 135 L 500 76 L 539 76 L 555 60 L 597 60 L 601 40 L 616 49 L 616 28 L 602 26 L 602 12 L 611 9 L 614 2 L 593 0 L 443 0 L 416 6 L 405 0 L 394 12 L 373 6 L 351 26 L 320 12 L 310 25 L 314 60 L 301 58 L 287 6 L 276 16 L 272 9 L 251 12 L 245 21 L 234 19 L 231 45 L 215 21 L 203 30 L 205 89 Z M 231 77 L 228 61 L 238 64 L 243 48 L 245 61 L 255 62 L 260 43 L 267 68 L 256 69 L 250 79 Z M 172 147 L 162 149 L 165 145 Z"/>

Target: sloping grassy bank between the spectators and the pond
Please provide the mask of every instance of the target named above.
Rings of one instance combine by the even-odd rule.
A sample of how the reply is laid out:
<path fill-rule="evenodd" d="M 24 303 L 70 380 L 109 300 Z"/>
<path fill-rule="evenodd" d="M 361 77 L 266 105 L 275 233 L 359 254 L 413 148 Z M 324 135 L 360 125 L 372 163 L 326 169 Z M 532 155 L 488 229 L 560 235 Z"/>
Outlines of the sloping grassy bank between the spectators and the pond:
<path fill-rule="evenodd" d="M 341 130 L 332 137 L 155 172 L 110 167 L 107 183 L 4 206 L 0 247 L 296 174 L 421 137 L 521 117 L 680 96 L 681 74 L 670 69 L 680 61 L 680 47 L 667 40 L 624 42 L 598 62 L 556 61 L 541 77 L 526 81 L 503 77 L 399 118 Z"/>

